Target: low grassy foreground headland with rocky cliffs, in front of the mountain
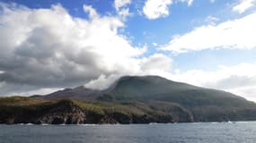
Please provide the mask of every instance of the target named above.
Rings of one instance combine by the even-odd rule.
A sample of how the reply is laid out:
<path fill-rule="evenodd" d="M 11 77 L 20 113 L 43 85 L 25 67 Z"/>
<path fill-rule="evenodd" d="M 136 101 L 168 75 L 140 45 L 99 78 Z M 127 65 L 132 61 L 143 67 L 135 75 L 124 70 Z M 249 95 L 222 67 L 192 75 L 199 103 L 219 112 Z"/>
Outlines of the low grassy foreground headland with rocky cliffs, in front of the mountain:
<path fill-rule="evenodd" d="M 0 98 L 2 103 L 0 104 L 0 123 L 183 122 L 178 118 L 173 118 L 170 112 L 160 110 L 153 105 L 137 102 L 107 103 L 71 99 L 46 100 L 31 97 L 15 99 L 16 97 Z M 38 104 L 27 101 L 37 101 Z M 24 104 L 25 102 L 27 104 Z M 75 116 L 76 118 L 74 118 Z M 177 121 L 175 121 L 176 119 Z M 186 122 L 191 121 L 189 119 Z"/>

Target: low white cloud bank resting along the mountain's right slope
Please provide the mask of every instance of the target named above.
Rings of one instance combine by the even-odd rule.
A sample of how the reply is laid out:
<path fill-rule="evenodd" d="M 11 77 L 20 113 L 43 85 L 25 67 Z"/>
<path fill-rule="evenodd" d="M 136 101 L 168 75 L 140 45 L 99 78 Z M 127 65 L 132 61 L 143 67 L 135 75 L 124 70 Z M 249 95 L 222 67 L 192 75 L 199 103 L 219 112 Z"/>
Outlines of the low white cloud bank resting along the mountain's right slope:
<path fill-rule="evenodd" d="M 256 101 L 256 63 L 219 66 L 216 71 L 190 70 L 175 74 L 165 73 L 165 77 L 201 87 L 223 89 Z"/>

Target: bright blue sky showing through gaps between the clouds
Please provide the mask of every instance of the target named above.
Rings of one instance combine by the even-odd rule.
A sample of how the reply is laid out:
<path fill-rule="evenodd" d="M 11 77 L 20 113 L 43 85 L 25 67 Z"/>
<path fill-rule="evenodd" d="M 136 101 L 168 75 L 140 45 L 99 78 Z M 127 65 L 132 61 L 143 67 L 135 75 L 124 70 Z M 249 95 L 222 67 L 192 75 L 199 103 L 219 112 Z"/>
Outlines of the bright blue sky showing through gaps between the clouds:
<path fill-rule="evenodd" d="M 83 5 L 89 4 L 100 13 L 102 16 L 116 14 L 114 1 L 104 0 L 11 0 L 7 3 L 23 4 L 30 8 L 50 8 L 52 4 L 61 4 L 68 13 L 74 17 L 88 19 L 88 15 L 84 13 Z M 146 45 L 148 51 L 146 55 L 152 55 L 156 52 L 157 45 L 164 45 L 169 42 L 174 35 L 182 35 L 190 30 L 197 28 L 201 25 L 210 24 L 207 18 L 215 17 L 216 24 L 223 21 L 234 20 L 248 13 L 255 11 L 255 6 L 249 8 L 245 13 L 235 13 L 232 8 L 235 4 L 239 3 L 237 0 L 210 0 L 193 1 L 189 6 L 186 2 L 173 2 L 169 6 L 170 15 L 149 20 L 143 15 L 143 6 L 146 2 L 139 0 L 133 1 L 127 7 L 130 10 L 130 15 L 125 21 L 126 26 L 119 30 L 119 33 L 132 39 L 133 46 Z M 167 53 L 165 51 L 165 53 Z M 173 66 L 181 71 L 190 69 L 214 70 L 217 65 L 234 65 L 243 62 L 252 62 L 256 60 L 255 50 L 204 50 L 199 52 L 185 53 L 181 55 L 167 53 L 172 56 L 174 61 Z M 209 58 L 209 62 L 205 63 L 202 58 Z M 193 64 L 191 64 L 193 63 Z M 207 65 L 206 65 L 207 64 Z"/>

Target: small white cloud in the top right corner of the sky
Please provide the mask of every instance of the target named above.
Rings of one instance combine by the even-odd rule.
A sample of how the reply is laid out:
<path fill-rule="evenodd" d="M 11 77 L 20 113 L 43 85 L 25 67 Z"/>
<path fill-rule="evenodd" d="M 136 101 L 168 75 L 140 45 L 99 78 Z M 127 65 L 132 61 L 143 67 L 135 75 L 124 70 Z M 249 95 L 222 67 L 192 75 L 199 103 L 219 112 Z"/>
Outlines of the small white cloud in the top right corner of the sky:
<path fill-rule="evenodd" d="M 233 11 L 237 13 L 244 13 L 255 4 L 255 0 L 240 0 L 238 4 L 234 5 Z"/>

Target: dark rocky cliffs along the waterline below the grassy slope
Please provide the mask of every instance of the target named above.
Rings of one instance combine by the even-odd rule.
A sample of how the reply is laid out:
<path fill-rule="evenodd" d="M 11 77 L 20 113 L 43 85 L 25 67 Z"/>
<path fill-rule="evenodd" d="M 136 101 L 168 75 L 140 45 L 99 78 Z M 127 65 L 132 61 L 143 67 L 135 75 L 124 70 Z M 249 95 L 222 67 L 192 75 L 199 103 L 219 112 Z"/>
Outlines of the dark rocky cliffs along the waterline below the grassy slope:
<path fill-rule="evenodd" d="M 97 113 L 84 110 L 71 100 L 60 100 L 52 105 L 0 106 L 0 123 L 17 124 L 129 124 L 174 121 L 172 114 L 127 114 L 122 111 Z M 188 120 L 187 122 L 192 122 Z"/>

